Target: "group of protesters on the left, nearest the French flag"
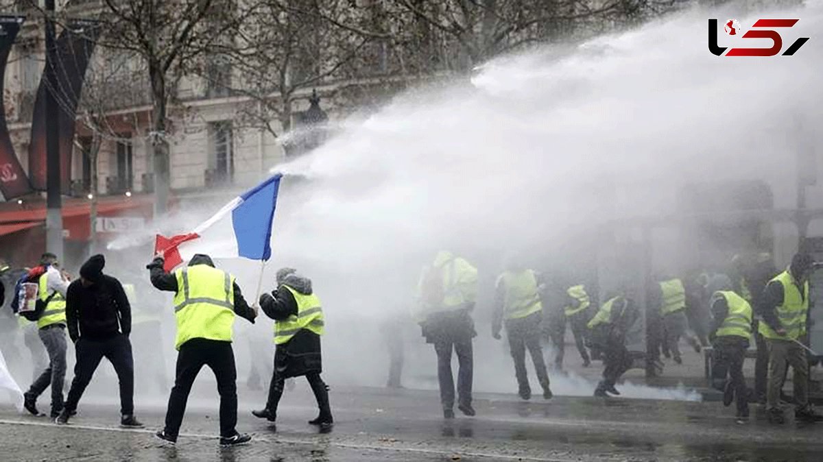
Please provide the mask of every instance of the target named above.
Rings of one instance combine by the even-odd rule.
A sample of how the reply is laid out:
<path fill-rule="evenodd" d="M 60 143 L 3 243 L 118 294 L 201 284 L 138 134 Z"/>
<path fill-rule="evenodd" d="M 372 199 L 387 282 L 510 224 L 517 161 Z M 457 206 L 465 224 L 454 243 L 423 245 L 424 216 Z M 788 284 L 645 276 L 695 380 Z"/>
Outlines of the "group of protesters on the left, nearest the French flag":
<path fill-rule="evenodd" d="M 46 414 L 38 409 L 37 400 L 50 388 L 50 418 L 54 423 L 67 424 L 77 413 L 77 405 L 100 361 L 106 358 L 114 366 L 119 381 L 120 426 L 140 428 L 143 424 L 134 411 L 135 361 L 129 340 L 136 294 L 132 285 L 121 284 L 114 276 L 105 274 L 104 268 L 105 256 L 91 256 L 81 266 L 80 277 L 72 280 L 61 269 L 57 256 L 44 253 L 38 265 L 26 269 L 16 279 L 13 301 L 3 311 L 13 312 L 21 322 L 35 326 L 48 356 L 48 363 L 38 371 L 24 394 L 24 408 L 36 417 L 44 417 Z M 275 289 L 263 293 L 258 303 L 249 306 L 235 277 L 216 268 L 207 255 L 195 255 L 187 265 L 177 269 L 165 268 L 162 256 L 156 256 L 146 269 L 156 289 L 174 293 L 174 344 L 178 350 L 165 426 L 156 432 L 156 437 L 169 444 L 176 443 L 188 395 L 198 373 L 207 366 L 215 374 L 220 395 L 221 446 L 236 446 L 251 440 L 235 428 L 237 371 L 232 339 L 235 318 L 239 316 L 253 323 L 259 309 L 274 320 L 272 338 L 277 347 L 267 403 L 263 409 L 254 410 L 253 415 L 267 419 L 274 427 L 285 381 L 305 376 L 319 407 L 318 417 L 309 423 L 321 431 L 332 427 L 328 386 L 320 377 L 323 308 L 311 280 L 294 269 L 283 268 L 277 271 Z M 32 300 L 27 299 L 26 285 L 36 288 Z M 0 288 L 2 304 L 6 284 L 0 284 Z M 64 400 L 67 336 L 74 344 L 77 358 L 72 384 Z M 35 353 L 32 357 L 35 358 Z"/>

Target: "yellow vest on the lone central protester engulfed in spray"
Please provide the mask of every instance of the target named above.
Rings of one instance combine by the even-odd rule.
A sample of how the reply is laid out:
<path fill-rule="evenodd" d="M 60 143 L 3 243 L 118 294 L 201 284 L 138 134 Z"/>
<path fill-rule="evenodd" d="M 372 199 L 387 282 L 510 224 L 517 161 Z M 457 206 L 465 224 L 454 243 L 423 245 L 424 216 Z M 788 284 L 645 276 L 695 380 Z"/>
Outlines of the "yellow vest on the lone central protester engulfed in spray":
<path fill-rule="evenodd" d="M 443 286 L 443 299 L 436 306 L 422 306 L 422 313 L 417 313 L 418 318 L 425 319 L 425 315 L 430 312 L 450 312 L 465 308 L 468 303 L 474 303 L 477 299 L 477 268 L 468 261 L 453 256 L 450 252 L 439 252 L 435 257 L 432 266 L 424 270 L 420 284 L 417 286 L 418 298 L 425 288 L 425 275 L 427 271 L 439 271 L 439 277 Z M 421 300 L 422 302 L 422 300 Z"/>

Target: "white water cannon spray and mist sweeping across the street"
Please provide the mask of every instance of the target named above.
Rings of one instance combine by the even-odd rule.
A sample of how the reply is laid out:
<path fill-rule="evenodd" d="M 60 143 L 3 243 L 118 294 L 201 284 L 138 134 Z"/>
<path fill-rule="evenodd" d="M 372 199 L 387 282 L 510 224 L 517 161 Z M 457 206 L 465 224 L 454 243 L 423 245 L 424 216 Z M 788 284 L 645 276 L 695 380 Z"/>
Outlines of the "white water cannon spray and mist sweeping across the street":
<path fill-rule="evenodd" d="M 263 289 L 273 289 L 281 266 L 314 280 L 327 318 L 323 369 L 332 400 L 335 386 L 385 384 L 388 322 L 402 333 L 404 386 L 436 389 L 435 353 L 409 312 L 421 267 L 440 249 L 464 256 L 480 271 L 474 389 L 514 395 L 508 344 L 491 338 L 493 282 L 504 255 L 519 252 L 536 270 L 575 280 L 602 260 L 593 247 L 609 246 L 593 243 L 592 236 L 619 233 L 618 219 L 672 215 L 684 185 L 763 179 L 775 202 L 793 201 L 798 139 L 814 146 L 821 141 L 814 127 L 823 124 L 823 48 L 816 37 L 823 8 L 809 3 L 798 12 L 746 16 L 739 5 L 728 12 L 694 9 L 584 44 L 495 59 L 471 78 L 416 88 L 374 113 L 347 118 L 319 149 L 274 166 L 272 172 L 286 177 Z M 744 27 L 758 17 L 800 17 L 782 31 L 784 46 L 798 36 L 811 40 L 794 57 L 718 58 L 707 48 L 706 19 L 727 16 Z M 719 39 L 721 46 L 756 42 L 722 32 Z M 184 201 L 178 215 L 155 228 L 188 232 L 229 200 Z M 224 221 L 210 229 L 212 238 L 231 238 Z M 115 242 L 107 271 L 142 280 L 140 303 L 169 308 L 165 360 L 153 364 L 164 365 L 170 379 L 171 294 L 149 288 L 143 269 L 152 238 Z M 677 270 L 681 256 L 711 252 L 704 247 L 709 243 L 695 246 L 656 256 L 659 269 Z M 192 247 L 220 256 L 219 246 L 205 240 Z M 237 275 L 251 301 L 259 263 L 220 260 L 219 266 Z M 597 270 L 601 296 L 635 277 L 619 261 L 609 267 Z M 272 321 L 262 316 L 254 326 L 244 324 L 235 324 L 241 399 L 249 358 L 263 367 L 273 356 Z M 249 347 L 249 339 L 257 343 Z M 160 348 L 157 341 L 133 341 L 135 350 Z M 576 362 L 575 356 L 568 345 L 566 361 Z M 145 391 L 152 372 L 138 364 L 136 374 L 138 392 Z M 560 395 L 590 395 L 595 385 L 574 374 L 551 380 Z M 696 399 L 684 390 L 624 390 L 629 397 Z M 148 395 L 166 393 L 158 386 Z M 263 404 L 263 392 L 255 393 Z"/>

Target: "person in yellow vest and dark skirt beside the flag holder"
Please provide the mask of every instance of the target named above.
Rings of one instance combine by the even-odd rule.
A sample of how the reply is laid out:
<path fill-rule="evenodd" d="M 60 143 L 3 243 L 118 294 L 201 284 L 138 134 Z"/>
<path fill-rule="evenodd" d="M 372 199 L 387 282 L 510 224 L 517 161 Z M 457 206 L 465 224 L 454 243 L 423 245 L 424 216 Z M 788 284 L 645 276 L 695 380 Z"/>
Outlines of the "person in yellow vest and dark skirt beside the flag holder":
<path fill-rule="evenodd" d="M 312 289 L 311 280 L 292 268 L 277 271 L 277 289 L 260 296 L 260 308 L 274 323 L 274 372 L 268 388 L 266 407 L 252 411 L 269 422 L 277 420 L 277 404 L 287 378 L 305 376 L 317 399 L 319 415 L 309 421 L 321 430 L 332 427 L 328 386 L 320 378 L 323 363 L 320 336 L 323 335 L 323 307 Z"/>

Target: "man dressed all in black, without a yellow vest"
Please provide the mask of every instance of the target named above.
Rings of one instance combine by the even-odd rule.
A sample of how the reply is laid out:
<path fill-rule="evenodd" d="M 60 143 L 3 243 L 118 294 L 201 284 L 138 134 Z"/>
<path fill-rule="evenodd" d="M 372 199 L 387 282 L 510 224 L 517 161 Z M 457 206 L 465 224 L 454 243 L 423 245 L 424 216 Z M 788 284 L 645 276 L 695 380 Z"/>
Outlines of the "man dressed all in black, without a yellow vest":
<path fill-rule="evenodd" d="M 72 388 L 55 422 L 68 423 L 100 359 L 105 357 L 114 366 L 120 382 L 120 426 L 142 427 L 134 418 L 134 361 L 132 344 L 128 341 L 132 310 L 120 281 L 104 275 L 104 266 L 102 255 L 91 256 L 80 268 L 80 280 L 68 286 L 66 322 L 77 363 Z"/>

